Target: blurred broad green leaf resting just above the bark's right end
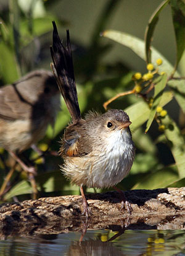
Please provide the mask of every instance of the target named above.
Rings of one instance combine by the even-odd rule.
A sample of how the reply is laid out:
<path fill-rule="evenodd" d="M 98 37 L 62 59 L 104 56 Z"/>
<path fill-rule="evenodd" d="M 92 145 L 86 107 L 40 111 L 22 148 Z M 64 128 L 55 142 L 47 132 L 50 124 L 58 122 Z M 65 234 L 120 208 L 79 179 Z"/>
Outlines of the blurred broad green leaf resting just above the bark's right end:
<path fill-rule="evenodd" d="M 168 166 L 146 175 L 144 179 L 134 185 L 132 189 L 165 188 L 168 187 L 171 182 L 178 179 L 178 177 L 176 166 Z"/>

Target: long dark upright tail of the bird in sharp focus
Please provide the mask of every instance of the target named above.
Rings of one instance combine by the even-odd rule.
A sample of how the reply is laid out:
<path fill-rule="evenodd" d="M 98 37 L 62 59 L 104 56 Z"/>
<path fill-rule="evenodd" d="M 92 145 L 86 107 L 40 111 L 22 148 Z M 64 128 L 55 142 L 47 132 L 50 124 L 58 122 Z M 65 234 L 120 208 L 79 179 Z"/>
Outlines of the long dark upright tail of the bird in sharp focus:
<path fill-rule="evenodd" d="M 67 108 L 72 116 L 72 121 L 75 122 L 76 120 L 80 119 L 81 115 L 76 92 L 70 35 L 69 31 L 67 30 L 67 42 L 66 47 L 64 47 L 60 41 L 57 26 L 55 25 L 54 21 L 52 22 L 52 25 L 54 30 L 52 35 L 52 46 L 50 48 L 53 61 L 51 68 L 60 92 L 64 97 L 65 104 L 67 105 Z"/>

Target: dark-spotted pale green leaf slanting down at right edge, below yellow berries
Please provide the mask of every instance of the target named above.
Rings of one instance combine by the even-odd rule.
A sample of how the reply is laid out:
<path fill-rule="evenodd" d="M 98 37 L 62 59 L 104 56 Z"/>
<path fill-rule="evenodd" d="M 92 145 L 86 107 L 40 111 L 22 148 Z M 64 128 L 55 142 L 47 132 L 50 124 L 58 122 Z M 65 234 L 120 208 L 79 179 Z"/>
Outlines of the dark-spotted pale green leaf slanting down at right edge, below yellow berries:
<path fill-rule="evenodd" d="M 185 141 L 175 121 L 168 115 L 162 118 L 162 124 L 167 127 L 165 129 L 165 136 L 168 139 L 171 152 L 178 168 L 179 177 L 185 177 Z"/>

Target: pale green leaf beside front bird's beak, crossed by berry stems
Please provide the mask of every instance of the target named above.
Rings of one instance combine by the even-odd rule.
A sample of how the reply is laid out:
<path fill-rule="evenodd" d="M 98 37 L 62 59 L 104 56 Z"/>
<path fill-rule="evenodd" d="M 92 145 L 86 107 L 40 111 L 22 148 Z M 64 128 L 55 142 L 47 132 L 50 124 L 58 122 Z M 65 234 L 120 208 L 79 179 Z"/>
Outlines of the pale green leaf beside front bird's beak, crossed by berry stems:
<path fill-rule="evenodd" d="M 164 92 L 159 105 L 163 107 L 164 105 L 168 104 L 172 97 L 173 94 L 171 92 Z M 130 120 L 132 121 L 131 130 L 135 131 L 148 120 L 150 115 L 150 108 L 146 102 L 140 101 L 126 108 L 125 112 L 128 113 Z"/>

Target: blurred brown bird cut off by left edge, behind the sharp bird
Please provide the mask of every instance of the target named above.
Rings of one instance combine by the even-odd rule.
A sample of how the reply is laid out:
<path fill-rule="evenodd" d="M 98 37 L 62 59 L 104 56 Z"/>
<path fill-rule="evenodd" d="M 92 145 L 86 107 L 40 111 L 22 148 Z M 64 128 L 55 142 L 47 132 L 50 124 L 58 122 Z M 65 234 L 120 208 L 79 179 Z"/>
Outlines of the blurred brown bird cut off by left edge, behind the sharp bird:
<path fill-rule="evenodd" d="M 44 137 L 59 109 L 60 91 L 51 71 L 31 71 L 0 87 L 0 147 L 26 172 L 35 174 L 35 168 L 27 166 L 19 154 Z"/>

